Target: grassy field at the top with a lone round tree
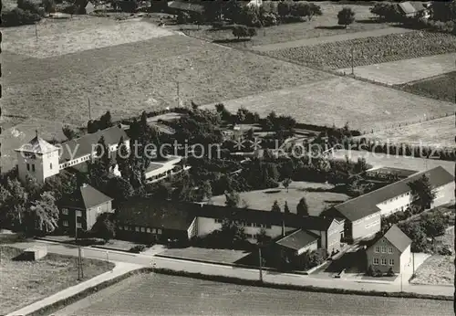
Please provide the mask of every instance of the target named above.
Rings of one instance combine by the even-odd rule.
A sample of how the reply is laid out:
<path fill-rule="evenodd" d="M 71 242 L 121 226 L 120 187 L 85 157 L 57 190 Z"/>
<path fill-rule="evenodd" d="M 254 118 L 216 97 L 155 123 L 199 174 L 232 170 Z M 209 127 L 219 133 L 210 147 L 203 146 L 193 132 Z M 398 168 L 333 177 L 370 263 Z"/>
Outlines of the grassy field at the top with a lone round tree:
<path fill-rule="evenodd" d="M 328 1 L 316 4 L 321 6 L 323 16 L 314 16 L 310 21 L 301 23 L 265 27 L 265 33 L 262 29 L 258 30 L 258 35 L 246 44 L 231 41 L 234 38 L 232 30 L 213 30 L 212 27 L 200 27 L 198 30 L 196 26 L 182 26 L 182 31 L 192 37 L 224 41 L 224 44 L 232 47 L 251 47 L 389 27 L 386 23 L 374 23 L 369 20 L 372 17 L 369 5 L 337 5 Z M 337 26 L 337 13 L 345 6 L 351 7 L 356 14 L 356 22 L 347 28 Z"/>

